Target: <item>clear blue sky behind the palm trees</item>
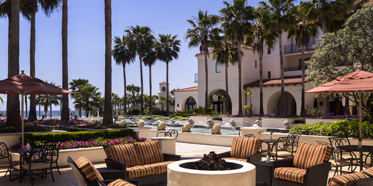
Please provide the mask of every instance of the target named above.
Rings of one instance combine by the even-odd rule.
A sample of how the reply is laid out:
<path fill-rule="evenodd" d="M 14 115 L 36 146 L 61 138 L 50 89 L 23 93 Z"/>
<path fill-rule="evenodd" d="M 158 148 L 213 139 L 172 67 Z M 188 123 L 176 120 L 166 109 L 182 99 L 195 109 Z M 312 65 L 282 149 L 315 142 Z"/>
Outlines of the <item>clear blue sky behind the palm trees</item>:
<path fill-rule="evenodd" d="M 228 1 L 229 2 L 229 1 Z M 249 1 L 257 6 L 259 1 Z M 70 0 L 68 2 L 68 60 L 69 81 L 88 79 L 104 92 L 104 0 Z M 122 36 L 128 26 L 149 26 L 154 34 L 178 35 L 182 41 L 179 59 L 170 63 L 170 89 L 197 86 L 196 53 L 198 48 L 189 49 L 184 35 L 190 24 L 186 21 L 197 15 L 199 10 L 219 14 L 222 0 L 112 0 L 112 36 Z M 36 14 L 36 77 L 62 84 L 62 8 L 47 17 L 42 11 Z M 8 64 L 8 19 L 0 19 L 0 79 L 7 78 Z M 30 74 L 30 22 L 20 20 L 20 70 Z M 123 70 L 112 60 L 112 91 L 123 96 Z M 143 66 L 144 93 L 149 94 L 149 71 Z M 127 85 L 140 86 L 139 60 L 126 68 Z M 166 80 L 166 64 L 158 61 L 152 67 L 152 93 L 158 92 L 158 84 Z M 6 99 L 5 95 L 0 95 Z M 70 108 L 73 108 L 70 101 Z M 0 104 L 0 110 L 6 103 Z M 59 107 L 53 110 L 58 110 Z"/>

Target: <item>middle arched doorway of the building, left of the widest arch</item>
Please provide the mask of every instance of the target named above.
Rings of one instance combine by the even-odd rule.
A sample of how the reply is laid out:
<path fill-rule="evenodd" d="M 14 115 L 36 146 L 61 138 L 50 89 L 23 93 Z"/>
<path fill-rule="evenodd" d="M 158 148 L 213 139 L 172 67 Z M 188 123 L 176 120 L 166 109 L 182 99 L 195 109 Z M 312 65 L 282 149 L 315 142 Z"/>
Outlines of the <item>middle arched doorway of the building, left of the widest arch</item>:
<path fill-rule="evenodd" d="M 232 111 L 232 102 L 231 98 L 228 95 L 226 97 L 226 92 L 223 89 L 217 89 L 209 94 L 209 105 L 211 109 L 214 109 L 219 114 L 226 114 L 226 104 L 228 104 L 228 112 L 231 113 Z"/>

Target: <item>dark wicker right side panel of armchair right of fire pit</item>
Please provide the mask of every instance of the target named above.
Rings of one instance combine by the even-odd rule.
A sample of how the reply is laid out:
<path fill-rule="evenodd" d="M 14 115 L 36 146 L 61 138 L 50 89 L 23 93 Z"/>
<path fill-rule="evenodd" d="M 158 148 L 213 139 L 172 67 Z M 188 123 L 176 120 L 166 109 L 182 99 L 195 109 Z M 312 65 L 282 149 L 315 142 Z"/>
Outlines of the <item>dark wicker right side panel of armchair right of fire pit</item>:
<path fill-rule="evenodd" d="M 307 185 L 326 185 L 331 163 L 320 163 L 307 168 L 304 182 Z"/>

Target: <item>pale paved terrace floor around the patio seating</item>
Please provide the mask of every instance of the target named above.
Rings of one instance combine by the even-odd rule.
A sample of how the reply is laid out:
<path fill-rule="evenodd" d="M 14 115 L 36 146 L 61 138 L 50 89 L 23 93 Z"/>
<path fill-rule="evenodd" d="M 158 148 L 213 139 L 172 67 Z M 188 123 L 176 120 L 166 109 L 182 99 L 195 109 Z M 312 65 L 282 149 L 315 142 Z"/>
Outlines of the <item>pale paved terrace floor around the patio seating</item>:
<path fill-rule="evenodd" d="M 214 145 L 202 145 L 202 144 L 192 144 L 192 143 L 182 143 L 176 142 L 176 154 L 181 155 L 183 158 L 201 158 L 203 154 L 207 154 L 210 151 L 215 151 L 216 153 L 230 151 L 230 147 L 226 146 L 214 146 Z M 264 158 L 263 158 L 264 161 Z M 106 167 L 105 163 L 94 164 L 96 168 Z M 0 169 L 2 171 L 2 169 Z M 55 182 L 52 181 L 50 175 L 42 180 L 40 177 L 36 177 L 34 181 L 34 186 L 78 186 L 75 175 L 70 169 L 70 167 L 60 168 L 61 175 L 57 171 L 53 171 Z M 332 177 L 334 171 L 329 172 L 329 177 Z M 9 182 L 9 177 L 4 177 L 4 173 L 0 173 L 0 185 L 1 186 L 31 186 L 30 178 L 26 176 L 22 179 L 22 183 L 18 180 Z M 13 175 L 12 175 L 13 177 Z M 165 186 L 163 184 L 162 186 Z"/>

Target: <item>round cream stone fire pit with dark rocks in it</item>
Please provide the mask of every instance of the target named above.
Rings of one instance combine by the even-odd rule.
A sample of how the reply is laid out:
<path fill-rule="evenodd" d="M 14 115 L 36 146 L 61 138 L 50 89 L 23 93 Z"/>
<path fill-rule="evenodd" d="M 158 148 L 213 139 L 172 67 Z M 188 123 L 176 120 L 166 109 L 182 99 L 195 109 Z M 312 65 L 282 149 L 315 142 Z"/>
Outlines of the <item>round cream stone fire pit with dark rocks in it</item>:
<path fill-rule="evenodd" d="M 182 160 L 167 166 L 167 186 L 255 186 L 255 166 L 250 163 L 225 160 L 230 170 L 196 170 L 199 159 Z"/>

